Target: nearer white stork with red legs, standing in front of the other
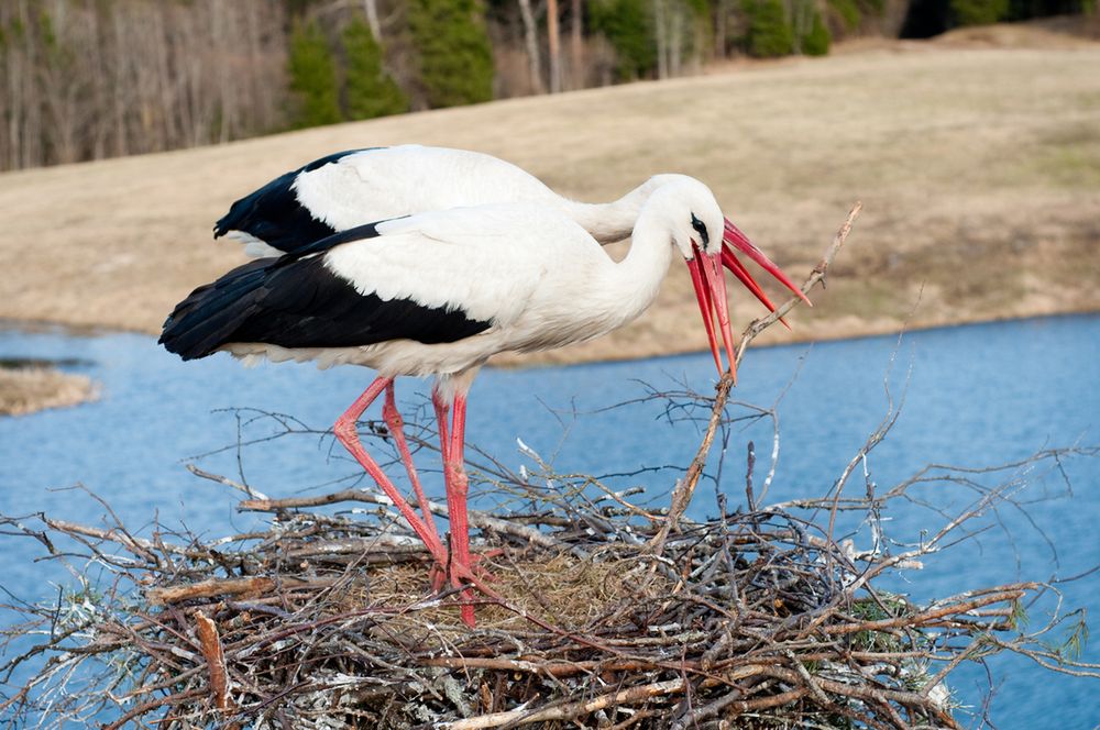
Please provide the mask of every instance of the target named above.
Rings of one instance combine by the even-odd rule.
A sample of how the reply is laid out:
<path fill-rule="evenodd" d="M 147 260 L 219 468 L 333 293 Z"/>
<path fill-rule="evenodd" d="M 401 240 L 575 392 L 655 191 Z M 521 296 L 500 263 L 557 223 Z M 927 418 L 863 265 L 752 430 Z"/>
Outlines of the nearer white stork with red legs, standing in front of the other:
<path fill-rule="evenodd" d="M 377 370 L 334 432 L 432 557 L 450 564 L 451 582 L 459 585 L 472 575 L 463 444 L 466 392 L 479 368 L 499 352 L 560 347 L 629 322 L 656 298 L 676 251 L 696 281 L 712 350 L 717 352 L 719 329 L 733 363 L 721 264 L 725 230 L 711 190 L 685 176 L 669 176 L 651 192 L 619 263 L 575 221 L 534 203 L 369 223 L 279 258 L 251 262 L 199 287 L 168 317 L 160 342 L 184 360 L 226 350 L 238 357 Z M 355 428 L 400 375 L 437 378 L 451 561 L 426 505 L 421 519 L 363 449 Z M 449 430 L 448 410 L 453 411 Z M 462 618 L 473 624 L 469 602 Z"/>

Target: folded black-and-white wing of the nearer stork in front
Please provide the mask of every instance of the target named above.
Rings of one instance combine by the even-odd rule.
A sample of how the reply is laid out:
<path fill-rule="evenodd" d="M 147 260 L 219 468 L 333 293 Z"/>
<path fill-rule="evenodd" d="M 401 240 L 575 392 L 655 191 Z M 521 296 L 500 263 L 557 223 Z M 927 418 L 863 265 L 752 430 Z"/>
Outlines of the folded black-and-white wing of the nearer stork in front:
<path fill-rule="evenodd" d="M 569 219 L 529 206 L 437 211 L 356 235 L 245 264 L 196 289 L 165 322 L 161 343 L 190 360 L 243 342 L 454 342 L 517 318 L 561 241 L 595 245 Z"/>

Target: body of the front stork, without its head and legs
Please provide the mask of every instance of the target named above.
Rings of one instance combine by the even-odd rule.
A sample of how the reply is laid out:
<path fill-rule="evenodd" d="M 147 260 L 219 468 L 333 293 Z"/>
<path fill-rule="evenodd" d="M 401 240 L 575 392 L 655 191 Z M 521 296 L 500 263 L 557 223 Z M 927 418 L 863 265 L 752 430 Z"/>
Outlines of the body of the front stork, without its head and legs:
<path fill-rule="evenodd" d="M 652 228 L 639 217 L 640 231 Z M 532 203 L 421 213 L 245 264 L 180 305 L 201 325 L 173 336 L 185 360 L 217 342 L 238 356 L 450 376 L 632 320 L 657 296 L 668 243 L 636 241 L 615 263 L 575 222 Z"/>

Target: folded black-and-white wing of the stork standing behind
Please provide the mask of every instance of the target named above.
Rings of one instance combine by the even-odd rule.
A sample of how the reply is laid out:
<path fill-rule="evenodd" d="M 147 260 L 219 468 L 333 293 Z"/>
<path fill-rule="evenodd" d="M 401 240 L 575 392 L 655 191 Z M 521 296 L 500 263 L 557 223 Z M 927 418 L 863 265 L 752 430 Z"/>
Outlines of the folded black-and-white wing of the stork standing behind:
<path fill-rule="evenodd" d="M 431 210 L 556 200 L 538 178 L 490 155 L 399 145 L 337 153 L 292 170 L 233 203 L 215 235 L 253 255 L 298 252 L 332 233 Z"/>

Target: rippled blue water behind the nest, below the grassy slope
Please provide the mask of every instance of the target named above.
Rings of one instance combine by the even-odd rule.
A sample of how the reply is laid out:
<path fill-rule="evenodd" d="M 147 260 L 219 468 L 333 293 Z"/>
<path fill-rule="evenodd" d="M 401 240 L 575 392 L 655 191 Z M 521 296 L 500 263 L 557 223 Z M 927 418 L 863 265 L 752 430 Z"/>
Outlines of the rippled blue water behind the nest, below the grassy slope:
<path fill-rule="evenodd" d="M 109 500 L 132 527 L 147 524 L 155 516 L 162 523 L 184 522 L 217 537 L 246 529 L 256 518 L 235 513 L 240 495 L 190 475 L 185 461 L 244 478 L 277 496 L 330 490 L 361 479 L 354 463 L 320 432 L 369 383 L 365 370 L 318 372 L 290 364 L 249 370 L 224 355 L 184 364 L 152 339 L 135 334 L 0 331 L 3 356 L 82 358 L 88 364 L 69 369 L 98 379 L 102 392 L 99 401 L 79 408 L 0 419 L 2 513 L 45 511 L 97 522 L 102 508 L 65 489 L 82 484 Z M 510 468 L 534 466 L 518 452 L 517 438 L 563 473 L 682 466 L 697 444 L 697 423 L 670 423 L 657 401 L 604 409 L 642 398 L 650 389 L 682 390 L 686 384 L 710 391 L 712 379 L 708 355 L 488 369 L 471 395 L 468 436 Z M 880 491 L 930 462 L 981 467 L 1022 460 L 1041 449 L 1100 444 L 1100 317 L 915 332 L 900 343 L 897 338 L 871 338 L 750 352 L 739 372 L 736 398 L 774 406 L 781 433 L 767 501 L 815 497 L 832 486 L 887 414 L 886 381 L 894 405 L 902 398 L 904 405 L 893 430 L 867 460 L 869 478 Z M 422 383 L 399 385 L 403 410 L 424 409 L 426 392 Z M 219 410 L 230 408 L 255 411 Z M 248 441 L 279 432 L 272 419 L 255 417 L 263 411 L 293 414 L 317 433 L 233 447 L 239 433 Z M 770 466 L 772 422 L 738 423 L 728 435 L 721 485 L 737 505 L 744 498 L 745 445 L 749 440 L 757 444 L 759 494 Z M 420 461 L 430 471 L 431 455 L 424 453 Z M 711 471 L 716 466 L 717 457 Z M 1035 469 L 1028 475 L 1031 486 L 1020 495 L 1028 502 L 1026 515 L 999 510 L 986 518 L 983 523 L 993 528 L 979 541 L 930 558 L 924 571 L 890 577 L 883 585 L 927 599 L 998 583 L 1071 576 L 1097 565 L 1100 458 L 1070 457 L 1062 466 L 1071 496 L 1062 472 Z M 860 465 L 849 491 L 865 488 L 862 469 Z M 648 497 L 660 502 L 674 475 L 658 468 L 607 482 L 616 488 L 645 486 Z M 1019 471 L 976 478 L 993 486 L 1012 476 Z M 427 479 L 439 489 L 438 474 Z M 713 480 L 701 485 L 694 516 L 716 511 L 714 494 Z M 974 499 L 971 493 L 945 484 L 921 496 L 948 511 Z M 483 504 L 492 499 L 482 498 Z M 943 524 L 933 511 L 901 505 L 887 517 L 890 534 L 901 541 L 915 542 L 922 531 L 934 532 Z M 856 542 L 866 548 L 866 532 Z M 35 543 L 0 535 L 0 545 L 7 556 L 6 588 L 28 599 L 55 595 L 43 578 L 63 576 L 31 562 L 41 555 Z M 1100 572 L 1059 588 L 1067 606 L 1086 608 L 1090 618 L 1100 616 Z M 1032 607 L 1030 628 L 1042 624 L 1049 607 L 1049 601 Z M 1084 659 L 1100 662 L 1100 650 L 1088 646 Z M 997 727 L 1088 729 L 1100 723 L 1100 683 L 1044 673 L 1012 656 L 994 657 L 990 670 L 997 689 L 990 717 Z M 956 697 L 978 706 L 987 686 L 985 670 L 968 664 L 953 677 Z"/>

